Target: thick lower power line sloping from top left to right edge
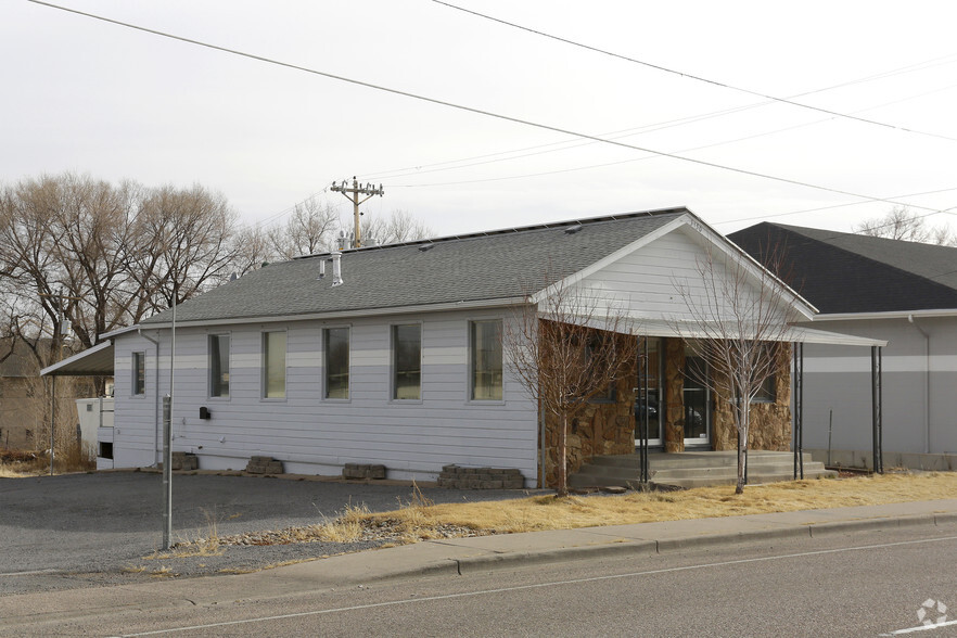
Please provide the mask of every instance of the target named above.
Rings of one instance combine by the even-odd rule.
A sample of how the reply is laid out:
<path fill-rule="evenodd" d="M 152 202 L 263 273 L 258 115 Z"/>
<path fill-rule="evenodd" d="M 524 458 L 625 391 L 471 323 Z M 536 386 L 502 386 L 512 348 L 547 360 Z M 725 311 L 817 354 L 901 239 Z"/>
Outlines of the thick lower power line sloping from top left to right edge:
<path fill-rule="evenodd" d="M 634 150 L 634 151 L 642 151 L 642 152 L 645 152 L 645 153 L 652 153 L 652 154 L 654 154 L 654 155 L 660 155 L 660 156 L 662 156 L 662 157 L 671 157 L 671 158 L 673 158 L 673 160 L 678 160 L 678 161 L 681 161 L 681 162 L 688 162 L 688 163 L 691 163 L 691 164 L 696 164 L 696 165 L 699 165 L 699 166 L 706 166 L 706 167 L 710 167 L 710 168 L 717 168 L 717 169 L 719 169 L 719 170 L 726 170 L 726 171 L 735 173 L 735 174 L 738 174 L 738 175 L 745 175 L 745 176 L 750 176 L 750 177 L 758 177 L 758 178 L 762 178 L 762 179 L 768 179 L 768 180 L 771 180 L 771 181 L 777 181 L 777 182 L 781 182 L 781 183 L 788 183 L 788 184 L 791 184 L 791 186 L 799 186 L 799 187 L 803 187 L 803 188 L 809 188 L 809 189 L 819 190 L 819 191 L 825 191 L 825 192 L 830 192 L 830 193 L 837 193 L 837 194 L 842 194 L 842 195 L 848 195 L 848 196 L 853 196 L 853 197 L 860 197 L 860 199 L 863 199 L 863 200 L 872 200 L 872 201 L 884 202 L 884 203 L 889 203 L 889 204 L 907 205 L 907 204 L 904 204 L 903 202 L 895 202 L 895 201 L 893 201 L 893 200 L 886 200 L 886 199 L 883 199 L 883 197 L 875 197 L 875 196 L 870 196 L 870 195 L 864 195 L 864 194 L 855 193 L 855 192 L 852 192 L 852 191 L 846 191 L 846 190 L 843 190 L 843 189 L 831 188 L 831 187 L 824 187 L 824 186 L 814 184 L 814 183 L 811 183 L 811 182 L 805 182 L 805 181 L 801 181 L 801 180 L 796 180 L 796 179 L 790 179 L 790 178 L 786 178 L 786 177 L 778 177 L 778 176 L 774 176 L 774 175 L 768 175 L 768 174 L 764 174 L 764 173 L 758 173 L 758 171 L 756 171 L 756 170 L 749 170 L 749 169 L 747 169 L 747 168 L 737 168 L 737 167 L 733 167 L 733 166 L 727 166 L 727 165 L 717 164 L 717 163 L 714 163 L 714 162 L 706 162 L 706 161 L 704 161 L 704 160 L 696 160 L 696 158 L 693 158 L 693 157 L 685 157 L 685 156 L 681 156 L 681 155 L 677 155 L 677 154 L 675 154 L 675 153 L 667 153 L 667 152 L 663 152 L 663 151 L 656 151 L 656 150 L 654 150 L 654 149 L 648 149 L 648 148 L 643 148 L 643 146 L 638 146 L 638 145 L 636 145 L 636 144 L 628 144 L 628 143 L 621 142 L 621 141 L 616 141 L 616 140 L 610 140 L 610 139 L 607 139 L 607 138 L 601 138 L 601 137 L 594 136 L 594 135 L 589 135 L 589 133 L 585 133 L 585 132 L 574 131 L 574 130 L 565 129 L 565 128 L 558 127 L 558 126 L 551 126 L 551 125 L 547 125 L 547 124 L 541 124 L 541 123 L 533 122 L 533 120 L 529 120 L 529 119 L 522 119 L 522 118 L 520 118 L 520 117 L 512 117 L 512 116 L 510 116 L 510 115 L 503 115 L 503 114 L 495 113 L 495 112 L 492 112 L 492 111 L 485 111 L 485 110 L 482 110 L 482 109 L 476 109 L 476 107 L 474 107 L 474 106 L 467 106 L 467 105 L 463 105 L 463 104 L 457 104 L 457 103 L 455 103 L 455 102 L 448 102 L 448 101 L 445 101 L 445 100 L 439 100 L 439 99 L 437 99 L 437 98 L 430 98 L 430 97 L 428 97 L 428 95 L 422 95 L 422 94 L 419 94 L 419 93 L 412 93 L 412 92 L 404 91 L 404 90 L 400 90 L 400 89 L 394 89 L 394 88 L 390 88 L 390 87 L 384 87 L 384 86 L 381 86 L 381 85 L 375 85 L 375 84 L 367 82 L 367 81 L 363 81 L 363 80 L 358 80 L 358 79 L 354 79 L 354 78 L 349 78 L 349 77 L 345 77 L 345 76 L 341 76 L 341 75 L 336 75 L 336 74 L 332 74 L 332 73 L 328 73 L 328 72 L 323 72 L 323 71 L 318 71 L 318 69 L 315 69 L 315 68 L 309 68 L 309 67 L 307 67 L 307 66 L 302 66 L 302 65 L 297 65 L 297 64 L 292 64 L 292 63 L 289 63 L 289 62 L 282 62 L 282 61 L 275 60 L 275 59 L 271 59 L 271 58 L 265 58 L 265 56 L 263 56 L 263 55 L 256 55 L 256 54 L 253 54 L 253 53 L 246 53 L 246 52 L 244 52 L 244 51 L 239 51 L 239 50 L 237 50 L 237 49 L 229 49 L 229 48 L 226 48 L 226 47 L 220 47 L 220 46 L 218 46 L 218 44 L 212 44 L 212 43 L 208 43 L 208 42 L 203 42 L 203 41 L 201 41 L 201 40 L 194 40 L 194 39 L 192 39 L 192 38 L 186 38 L 186 37 L 183 37 L 183 36 L 177 36 L 177 35 L 174 35 L 174 34 L 166 33 L 166 31 L 161 31 L 161 30 L 156 30 L 156 29 L 151 29 L 151 28 L 143 27 L 143 26 L 139 26 L 139 25 L 135 25 L 135 24 L 131 24 L 131 23 L 120 22 L 120 21 L 117 21 L 117 20 L 113 20 L 113 18 L 110 18 L 110 17 L 104 17 L 104 16 L 97 15 L 97 14 L 93 14 L 93 13 L 87 13 L 87 12 L 84 12 L 84 11 L 78 11 L 78 10 L 76 10 L 76 9 L 71 9 L 71 8 L 67 8 L 67 7 L 60 7 L 60 5 L 58 5 L 58 4 L 52 4 L 52 3 L 50 3 L 50 2 L 42 2 L 41 0 L 28 0 L 28 1 L 29 1 L 29 2 L 33 2 L 33 3 L 35 3 L 35 4 L 40 4 L 40 5 L 43 5 L 43 7 L 49 7 L 49 8 L 51 8 L 51 9 L 58 9 L 58 10 L 60 10 L 60 11 L 65 11 L 65 12 L 67 12 L 67 13 L 74 13 L 74 14 L 76 14 L 76 15 L 82 15 L 82 16 L 85 16 L 85 17 L 90 17 L 90 18 L 93 18 L 93 20 L 98 20 L 98 21 L 101 21 L 101 22 L 109 23 L 109 24 L 114 24 L 114 25 L 117 25 L 117 26 L 123 26 L 123 27 L 126 27 L 126 28 L 130 28 L 130 29 L 135 29 L 135 30 L 139 30 L 139 31 L 143 31 L 143 33 L 152 34 L 152 35 L 160 36 L 160 37 L 163 37 L 163 38 L 169 38 L 169 39 L 171 39 L 171 40 L 178 40 L 178 41 L 181 41 L 181 42 L 187 42 L 187 43 L 189 43 L 189 44 L 195 44 L 195 46 L 197 46 L 197 47 L 203 47 L 203 48 L 206 48 L 206 49 L 212 49 L 212 50 L 214 50 L 214 51 L 220 51 L 220 52 L 224 52 L 224 53 L 230 53 L 230 54 L 232 54 L 232 55 L 239 55 L 239 56 L 242 56 L 242 58 L 247 58 L 247 59 L 250 59 L 250 60 L 256 60 L 256 61 L 258 61 L 258 62 L 264 62 L 264 63 L 267 63 L 267 64 L 275 64 L 275 65 L 277 65 L 277 66 L 282 66 L 282 67 L 284 67 L 284 68 L 291 68 L 291 69 L 294 69 L 294 71 L 301 71 L 301 72 L 303 72 L 303 73 L 308 73 L 308 74 L 310 74 L 310 75 L 318 75 L 318 76 L 326 77 L 326 78 L 329 78 L 329 79 L 334 79 L 334 80 L 339 80 L 339 81 L 342 81 L 342 82 L 346 82 L 346 84 L 350 84 L 350 85 L 355 85 L 355 86 L 359 86 L 359 87 L 366 87 L 366 88 L 373 89 L 373 90 L 377 90 L 377 91 L 382 91 L 382 92 L 386 92 L 386 93 L 392 93 L 392 94 L 394 94 L 394 95 L 401 95 L 401 97 L 405 97 L 405 98 L 410 98 L 410 99 L 413 99 L 413 100 L 419 100 L 419 101 L 422 101 L 422 102 L 428 102 L 428 103 L 430 103 L 430 104 L 436 104 L 436 105 L 439 105 L 439 106 L 446 106 L 446 107 L 449 107 L 449 109 L 455 109 L 455 110 L 463 111 L 463 112 L 467 112 L 467 113 L 473 113 L 473 114 L 476 114 L 476 115 L 483 115 L 483 116 L 492 117 L 492 118 L 495 118 L 495 119 L 501 119 L 502 122 L 510 122 L 510 123 L 513 123 L 513 124 L 520 124 L 520 125 L 523 125 L 523 126 L 529 126 L 529 127 L 533 127 L 533 128 L 538 128 L 538 129 L 541 129 L 541 130 L 548 130 L 548 131 L 552 131 L 552 132 L 558 132 L 558 133 L 562 133 L 562 135 L 566 135 L 566 136 L 571 136 L 571 137 L 578 137 L 578 138 L 586 139 L 586 140 L 592 140 L 592 141 L 596 141 L 596 142 L 602 142 L 602 143 L 605 143 L 605 144 L 610 144 L 610 145 L 614 145 L 614 146 L 620 146 L 620 148 L 623 148 L 623 149 L 630 149 L 630 150 Z M 931 209 L 931 208 L 927 208 L 927 207 L 923 207 L 923 206 L 914 206 L 914 207 L 922 208 L 922 209 L 927 209 L 927 210 L 930 210 L 930 209 Z"/>

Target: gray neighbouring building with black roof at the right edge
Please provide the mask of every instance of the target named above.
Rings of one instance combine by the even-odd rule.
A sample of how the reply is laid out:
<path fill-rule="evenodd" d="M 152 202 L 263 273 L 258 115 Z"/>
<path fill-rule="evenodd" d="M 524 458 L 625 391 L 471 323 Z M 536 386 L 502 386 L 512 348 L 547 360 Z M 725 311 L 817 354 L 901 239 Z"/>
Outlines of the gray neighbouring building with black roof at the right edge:
<path fill-rule="evenodd" d="M 885 467 L 957 467 L 957 248 L 758 224 L 729 235 L 757 259 L 784 256 L 789 283 L 820 314 L 813 324 L 885 340 Z M 809 324 L 809 323 L 808 323 Z M 870 360 L 859 348 L 805 350 L 804 447 L 847 467 L 871 464 Z"/>

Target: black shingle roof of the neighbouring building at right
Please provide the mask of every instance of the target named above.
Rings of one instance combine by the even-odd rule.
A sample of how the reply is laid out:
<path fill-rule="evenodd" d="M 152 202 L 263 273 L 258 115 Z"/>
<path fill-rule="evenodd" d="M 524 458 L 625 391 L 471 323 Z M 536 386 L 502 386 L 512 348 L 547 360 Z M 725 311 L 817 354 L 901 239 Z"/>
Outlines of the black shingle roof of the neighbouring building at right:
<path fill-rule="evenodd" d="M 778 273 L 825 314 L 957 308 L 957 248 L 782 224 L 728 239 L 758 260 L 784 251 Z"/>

